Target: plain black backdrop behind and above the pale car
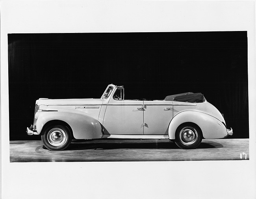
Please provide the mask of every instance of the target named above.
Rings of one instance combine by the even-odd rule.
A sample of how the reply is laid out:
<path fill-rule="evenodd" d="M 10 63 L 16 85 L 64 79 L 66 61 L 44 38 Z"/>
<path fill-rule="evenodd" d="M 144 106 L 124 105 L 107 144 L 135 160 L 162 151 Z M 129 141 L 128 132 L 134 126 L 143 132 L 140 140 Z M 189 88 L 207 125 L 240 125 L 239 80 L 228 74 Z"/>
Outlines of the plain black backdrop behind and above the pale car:
<path fill-rule="evenodd" d="M 8 34 L 10 140 L 26 135 L 40 97 L 126 99 L 201 92 L 230 138 L 249 138 L 247 32 Z"/>

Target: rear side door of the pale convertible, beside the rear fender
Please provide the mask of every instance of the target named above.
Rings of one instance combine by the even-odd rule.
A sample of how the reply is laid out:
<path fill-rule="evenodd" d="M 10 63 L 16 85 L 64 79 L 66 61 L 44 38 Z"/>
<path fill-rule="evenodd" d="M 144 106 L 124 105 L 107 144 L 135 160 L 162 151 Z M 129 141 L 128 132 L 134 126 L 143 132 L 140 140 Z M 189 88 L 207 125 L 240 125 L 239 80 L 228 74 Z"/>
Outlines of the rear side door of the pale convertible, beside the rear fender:
<path fill-rule="evenodd" d="M 173 102 L 144 101 L 144 135 L 168 135 L 173 119 Z"/>

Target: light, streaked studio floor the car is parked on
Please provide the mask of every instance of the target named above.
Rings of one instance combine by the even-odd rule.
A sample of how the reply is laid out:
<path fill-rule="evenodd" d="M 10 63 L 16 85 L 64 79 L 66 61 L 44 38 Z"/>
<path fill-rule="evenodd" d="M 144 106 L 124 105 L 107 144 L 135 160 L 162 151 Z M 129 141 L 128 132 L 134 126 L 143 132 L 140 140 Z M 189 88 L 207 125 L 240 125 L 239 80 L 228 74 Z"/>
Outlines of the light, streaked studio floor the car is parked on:
<path fill-rule="evenodd" d="M 202 160 L 249 160 L 249 139 L 203 139 L 193 150 L 154 139 L 73 140 L 64 151 L 50 151 L 41 141 L 10 141 L 10 162 Z"/>

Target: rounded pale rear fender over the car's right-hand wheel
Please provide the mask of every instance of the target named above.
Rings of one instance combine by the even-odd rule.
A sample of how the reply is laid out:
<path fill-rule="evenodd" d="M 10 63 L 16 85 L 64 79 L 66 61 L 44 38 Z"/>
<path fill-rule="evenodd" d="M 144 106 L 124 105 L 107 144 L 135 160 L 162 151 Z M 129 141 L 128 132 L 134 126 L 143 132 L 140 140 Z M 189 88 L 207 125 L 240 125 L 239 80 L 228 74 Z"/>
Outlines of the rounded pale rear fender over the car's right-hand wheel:
<path fill-rule="evenodd" d="M 226 136 L 226 126 L 215 117 L 199 111 L 182 111 L 175 115 L 169 124 L 169 139 L 175 139 L 176 129 L 185 122 L 197 124 L 205 139 L 217 139 Z"/>

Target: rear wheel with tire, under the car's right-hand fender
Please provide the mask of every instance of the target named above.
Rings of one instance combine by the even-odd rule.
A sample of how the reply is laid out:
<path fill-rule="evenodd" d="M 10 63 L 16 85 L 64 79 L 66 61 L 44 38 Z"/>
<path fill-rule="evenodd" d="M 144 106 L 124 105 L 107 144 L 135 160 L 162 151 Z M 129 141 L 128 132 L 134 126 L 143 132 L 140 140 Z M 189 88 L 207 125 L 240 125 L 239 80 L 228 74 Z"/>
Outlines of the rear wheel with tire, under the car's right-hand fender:
<path fill-rule="evenodd" d="M 175 134 L 175 143 L 182 149 L 194 149 L 202 141 L 202 131 L 195 124 L 180 125 Z"/>

